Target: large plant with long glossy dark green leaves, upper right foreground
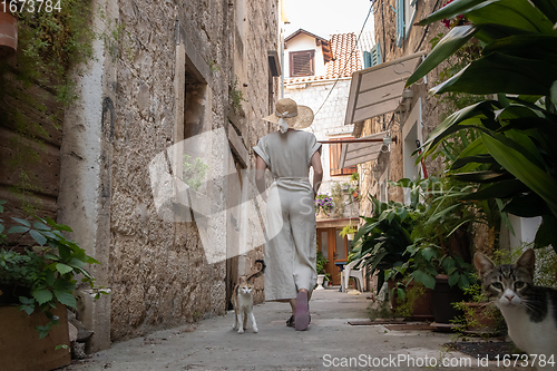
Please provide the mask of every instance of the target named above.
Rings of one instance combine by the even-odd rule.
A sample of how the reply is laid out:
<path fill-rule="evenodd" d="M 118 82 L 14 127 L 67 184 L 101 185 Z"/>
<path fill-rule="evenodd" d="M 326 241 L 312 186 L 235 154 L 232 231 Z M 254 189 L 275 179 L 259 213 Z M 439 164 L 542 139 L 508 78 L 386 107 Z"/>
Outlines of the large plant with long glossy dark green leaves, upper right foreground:
<path fill-rule="evenodd" d="M 420 21 L 428 25 L 457 14 L 470 25 L 455 27 L 408 79 L 418 81 L 450 58 L 472 37 L 483 48 L 433 94 L 497 95 L 447 117 L 423 144 L 431 155 L 456 131 L 475 131 L 449 169 L 451 176 L 478 184 L 468 201 L 501 199 L 504 212 L 541 216 L 536 246 L 557 252 L 557 12 L 550 0 L 456 0 Z M 487 166 L 487 169 L 485 168 Z"/>

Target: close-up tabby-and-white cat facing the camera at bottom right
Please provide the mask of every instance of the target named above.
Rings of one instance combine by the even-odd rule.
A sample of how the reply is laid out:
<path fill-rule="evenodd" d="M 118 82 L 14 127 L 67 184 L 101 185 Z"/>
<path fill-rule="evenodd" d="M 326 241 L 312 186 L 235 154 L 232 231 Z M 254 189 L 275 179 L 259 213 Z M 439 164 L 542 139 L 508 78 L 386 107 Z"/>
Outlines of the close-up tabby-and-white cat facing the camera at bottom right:
<path fill-rule="evenodd" d="M 536 354 L 538 370 L 557 370 L 557 290 L 534 285 L 534 250 L 524 252 L 516 264 L 497 266 L 476 253 L 473 264 L 483 292 L 500 309 L 515 345 L 532 359 Z"/>

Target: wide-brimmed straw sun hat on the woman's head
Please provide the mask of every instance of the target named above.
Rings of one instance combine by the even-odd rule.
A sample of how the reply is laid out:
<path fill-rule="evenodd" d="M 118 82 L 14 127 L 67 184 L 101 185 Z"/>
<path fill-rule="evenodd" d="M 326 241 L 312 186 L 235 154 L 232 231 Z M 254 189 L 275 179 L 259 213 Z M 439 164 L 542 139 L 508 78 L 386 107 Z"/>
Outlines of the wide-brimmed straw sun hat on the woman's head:
<path fill-rule="evenodd" d="M 265 121 L 278 124 L 281 133 L 290 128 L 303 129 L 313 123 L 313 110 L 306 106 L 299 106 L 290 98 L 276 101 L 275 113 L 263 118 Z"/>

